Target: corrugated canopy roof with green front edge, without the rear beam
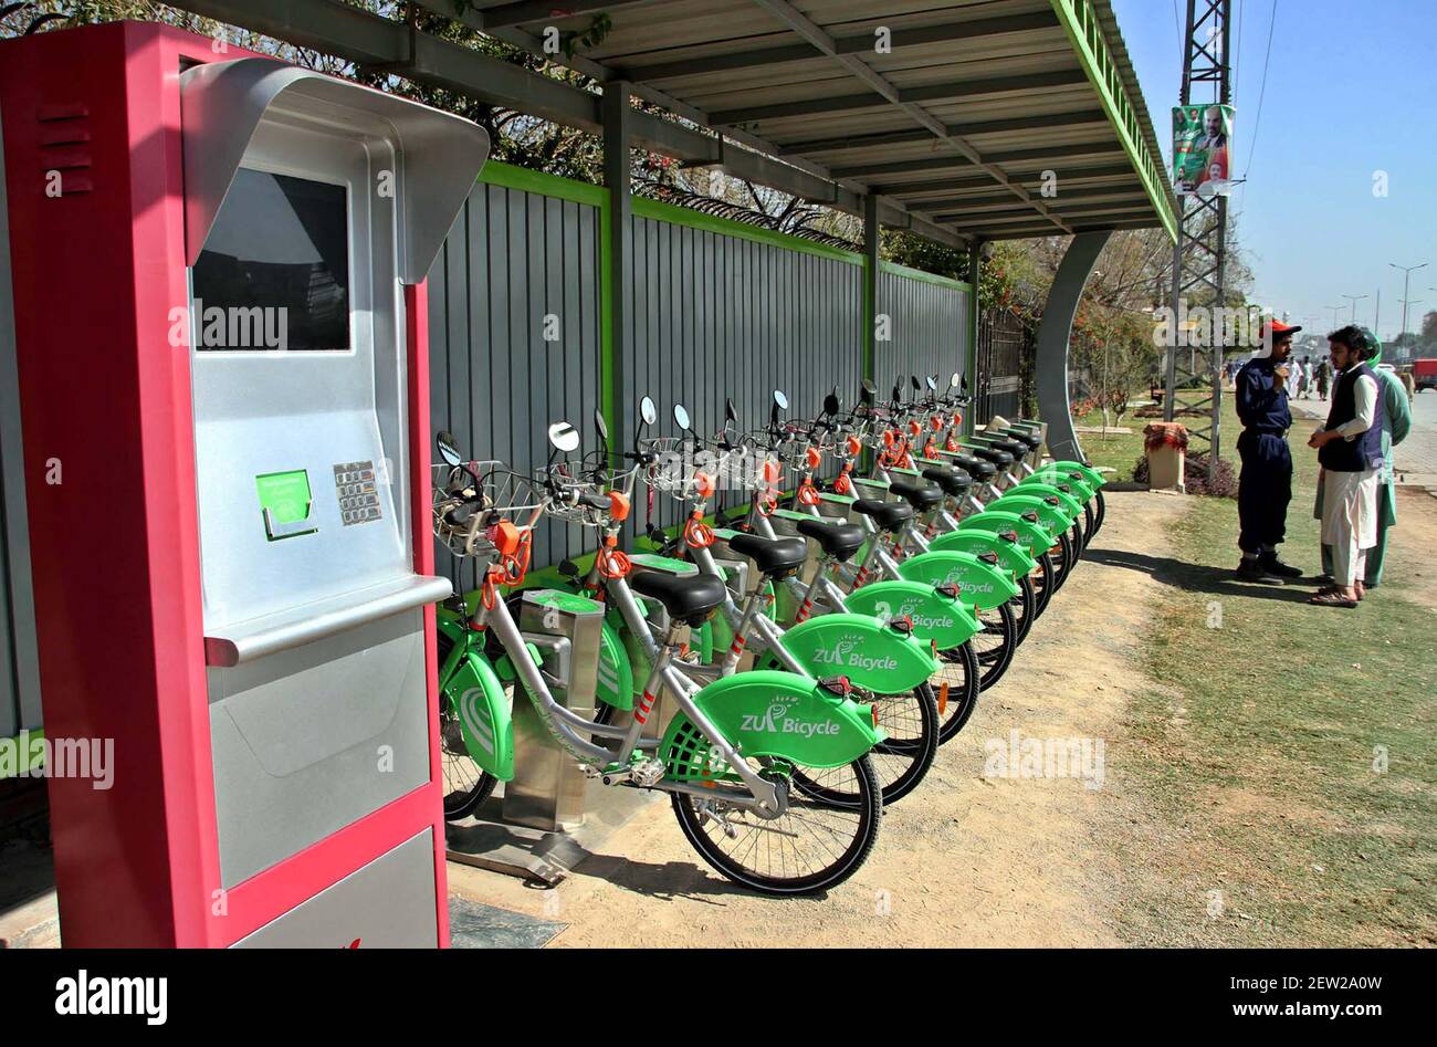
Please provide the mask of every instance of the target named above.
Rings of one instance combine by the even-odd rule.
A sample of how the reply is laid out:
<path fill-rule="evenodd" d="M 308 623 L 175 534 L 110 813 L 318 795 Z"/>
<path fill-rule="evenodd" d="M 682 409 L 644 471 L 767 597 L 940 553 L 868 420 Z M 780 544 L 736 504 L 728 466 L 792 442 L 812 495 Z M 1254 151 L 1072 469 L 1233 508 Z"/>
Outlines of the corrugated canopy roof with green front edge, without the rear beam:
<path fill-rule="evenodd" d="M 583 59 L 964 236 L 1175 227 L 1108 0 L 474 7 L 489 30 L 533 36 L 582 30 L 602 10 L 612 27 Z"/>

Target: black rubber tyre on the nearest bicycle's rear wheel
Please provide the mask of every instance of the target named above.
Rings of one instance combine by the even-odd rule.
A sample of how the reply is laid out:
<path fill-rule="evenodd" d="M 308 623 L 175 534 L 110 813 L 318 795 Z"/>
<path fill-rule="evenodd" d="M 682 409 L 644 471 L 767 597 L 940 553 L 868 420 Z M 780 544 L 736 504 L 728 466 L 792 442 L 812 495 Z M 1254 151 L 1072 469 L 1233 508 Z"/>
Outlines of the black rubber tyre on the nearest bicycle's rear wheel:
<path fill-rule="evenodd" d="M 714 818 L 706 817 L 698 810 L 698 804 L 706 800 L 704 797 L 675 792 L 673 795 L 674 817 L 678 820 L 678 827 L 688 838 L 688 843 L 693 844 L 693 849 L 698 851 L 704 861 L 734 883 L 762 895 L 818 895 L 846 880 L 868 860 L 868 854 L 878 840 L 878 827 L 884 817 L 882 790 L 878 788 L 878 775 L 874 771 L 872 761 L 865 755 L 851 764 L 845 764 L 844 768 L 833 768 L 833 771 L 844 769 L 854 778 L 852 792 L 859 798 L 856 805 L 836 807 L 790 790 L 789 813 L 783 817 L 775 818 L 772 823 L 764 823 L 747 815 L 740 823 L 741 826 L 753 827 L 754 849 L 757 847 L 757 838 L 766 838 L 770 841 L 776 840 L 780 851 L 786 846 L 793 846 L 785 833 L 795 828 L 795 810 L 803 813 L 803 820 L 798 823 L 799 830 L 806 830 L 809 826 L 818 824 L 818 818 L 821 817 L 826 820 L 826 824 L 838 826 L 838 831 L 842 831 L 848 837 L 846 844 L 838 844 L 842 849 L 838 857 L 803 874 L 799 874 L 800 864 L 798 860 L 792 866 L 792 874 L 787 864 L 783 866 L 783 872 L 777 876 L 773 874 L 772 861 L 766 873 L 744 866 L 743 861 L 734 857 L 736 853 L 744 850 L 744 840 L 740 838 L 733 847 L 724 850 L 718 840 L 708 831 L 708 827 L 714 824 Z M 777 830 L 772 836 L 766 834 L 762 828 L 770 824 Z M 832 840 L 838 831 L 828 830 L 829 838 Z M 727 838 L 721 830 L 718 831 L 718 837 Z M 773 846 L 769 844 L 767 850 L 772 854 Z M 832 846 L 826 850 L 832 856 Z M 809 863 L 802 864 L 809 866 Z"/>

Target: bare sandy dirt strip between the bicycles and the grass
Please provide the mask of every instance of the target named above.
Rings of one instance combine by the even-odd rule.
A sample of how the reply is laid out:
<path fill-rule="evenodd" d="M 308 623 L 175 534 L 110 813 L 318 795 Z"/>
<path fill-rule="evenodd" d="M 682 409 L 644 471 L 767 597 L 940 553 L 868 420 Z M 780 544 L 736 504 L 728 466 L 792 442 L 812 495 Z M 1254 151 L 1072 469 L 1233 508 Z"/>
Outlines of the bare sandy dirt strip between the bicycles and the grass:
<path fill-rule="evenodd" d="M 1167 524 L 1187 505 L 1111 493 L 1091 551 L 1163 555 Z M 559 946 L 1117 945 L 1122 849 L 1114 840 L 1137 821 L 1115 774 L 1119 725 L 1129 698 L 1154 687 L 1138 639 L 1163 593 L 1148 574 L 1083 561 L 927 781 L 888 810 L 868 863 L 828 897 L 769 899 L 731 886 L 690 850 L 667 803 L 644 810 L 553 890 L 454 863 L 450 890 L 566 923 Z M 1101 787 L 1089 788 L 1098 777 L 984 777 L 989 744 L 1009 751 L 1012 731 L 1101 742 Z"/>

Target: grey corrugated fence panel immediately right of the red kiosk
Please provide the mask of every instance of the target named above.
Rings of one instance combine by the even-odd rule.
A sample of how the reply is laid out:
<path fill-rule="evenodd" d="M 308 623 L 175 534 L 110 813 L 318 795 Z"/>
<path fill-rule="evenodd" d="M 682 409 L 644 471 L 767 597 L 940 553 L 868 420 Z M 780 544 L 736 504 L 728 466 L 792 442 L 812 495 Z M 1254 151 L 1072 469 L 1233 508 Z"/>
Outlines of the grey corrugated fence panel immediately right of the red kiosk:
<path fill-rule="evenodd" d="M 559 339 L 545 341 L 545 316 Z M 550 421 L 579 426 L 585 446 L 599 407 L 599 211 L 568 200 L 480 184 L 430 270 L 430 410 L 477 459 L 522 473 L 543 466 Z M 586 536 L 546 522 L 539 567 L 582 552 Z M 477 585 L 471 568 L 458 577 Z"/>

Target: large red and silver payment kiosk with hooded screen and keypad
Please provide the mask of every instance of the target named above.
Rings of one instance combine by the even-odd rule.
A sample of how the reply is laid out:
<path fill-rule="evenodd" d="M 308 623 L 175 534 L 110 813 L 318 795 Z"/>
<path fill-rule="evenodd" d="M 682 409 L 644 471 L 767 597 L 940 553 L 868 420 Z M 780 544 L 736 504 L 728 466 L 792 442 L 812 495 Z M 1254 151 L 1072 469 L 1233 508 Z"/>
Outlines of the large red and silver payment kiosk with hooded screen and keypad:
<path fill-rule="evenodd" d="M 474 124 L 204 37 L 0 43 L 66 945 L 447 945 L 424 276 Z M 6 315 L 11 312 L 13 315 Z"/>

